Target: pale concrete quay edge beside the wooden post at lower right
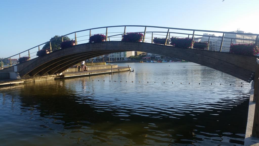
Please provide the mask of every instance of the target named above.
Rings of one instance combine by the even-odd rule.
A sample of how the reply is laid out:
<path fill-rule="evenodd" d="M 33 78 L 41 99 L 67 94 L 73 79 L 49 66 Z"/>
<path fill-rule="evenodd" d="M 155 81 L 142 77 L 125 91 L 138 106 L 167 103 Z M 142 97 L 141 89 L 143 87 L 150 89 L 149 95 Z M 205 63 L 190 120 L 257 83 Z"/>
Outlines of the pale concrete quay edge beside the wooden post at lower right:
<path fill-rule="evenodd" d="M 249 108 L 248 108 L 248 117 L 247 117 L 247 126 L 246 126 L 246 137 L 244 140 L 245 146 L 259 146 L 259 138 L 252 137 L 252 129 L 255 115 L 255 102 L 253 102 L 254 98 L 254 82 L 251 85 L 251 94 L 249 100 Z"/>

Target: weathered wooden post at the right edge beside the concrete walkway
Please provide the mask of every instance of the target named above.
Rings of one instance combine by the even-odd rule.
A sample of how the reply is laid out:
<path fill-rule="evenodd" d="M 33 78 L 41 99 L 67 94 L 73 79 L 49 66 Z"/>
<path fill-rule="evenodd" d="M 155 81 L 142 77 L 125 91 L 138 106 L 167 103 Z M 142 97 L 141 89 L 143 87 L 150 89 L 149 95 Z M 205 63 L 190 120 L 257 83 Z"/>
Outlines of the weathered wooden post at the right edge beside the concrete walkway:
<path fill-rule="evenodd" d="M 255 115 L 254 115 L 254 123 L 253 123 L 253 130 L 252 136 L 259 138 L 259 59 L 256 58 L 256 71 L 255 71 L 255 78 L 254 78 L 254 101 L 255 101 Z"/>

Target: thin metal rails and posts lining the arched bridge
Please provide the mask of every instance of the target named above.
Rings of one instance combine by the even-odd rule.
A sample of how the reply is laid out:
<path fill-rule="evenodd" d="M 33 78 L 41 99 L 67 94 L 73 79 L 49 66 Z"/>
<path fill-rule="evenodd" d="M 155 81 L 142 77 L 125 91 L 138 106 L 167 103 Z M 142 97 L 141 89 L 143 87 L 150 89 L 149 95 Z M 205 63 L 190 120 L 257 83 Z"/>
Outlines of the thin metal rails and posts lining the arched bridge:
<path fill-rule="evenodd" d="M 20 57 L 21 57 L 20 54 L 21 54 L 21 53 L 24 53 L 24 52 L 26 52 L 26 51 L 28 51 L 28 54 L 27 54 L 27 55 L 28 55 L 29 58 L 30 58 L 30 54 L 35 53 L 35 52 L 30 53 L 29 51 L 30 51 L 31 49 L 34 49 L 34 48 L 37 48 L 37 47 L 39 48 L 41 45 L 44 45 L 44 44 L 46 44 L 46 43 L 48 43 L 48 42 L 54 41 L 54 40 L 56 40 L 56 39 L 63 38 L 64 36 L 68 36 L 68 35 L 71 35 L 71 34 L 75 34 L 75 41 L 76 41 L 77 38 L 83 37 L 83 36 L 78 36 L 78 37 L 76 37 L 76 33 L 77 33 L 77 32 L 83 32 L 83 31 L 88 31 L 88 30 L 90 31 L 89 35 L 84 35 L 84 36 L 89 36 L 89 37 L 90 37 L 90 36 L 91 36 L 91 30 L 106 28 L 106 33 L 99 33 L 99 34 L 106 34 L 106 35 L 105 35 L 105 36 L 106 36 L 106 41 L 107 41 L 107 38 L 109 38 L 109 41 L 110 41 L 110 38 L 112 38 L 112 37 L 114 37 L 114 36 L 123 35 L 123 34 L 116 34 L 116 35 L 108 36 L 109 33 L 121 33 L 121 32 L 109 32 L 109 33 L 107 32 L 107 29 L 108 29 L 108 28 L 115 28 L 115 27 L 124 27 L 124 33 L 123 33 L 123 34 L 126 33 L 126 27 L 145 27 L 145 31 L 143 31 L 143 32 L 138 32 L 138 33 L 144 33 L 143 42 L 144 42 L 145 38 L 146 38 L 146 39 L 149 39 L 148 37 L 145 37 L 145 34 L 148 34 L 148 33 L 152 33 L 152 41 L 153 41 L 153 35 L 161 35 L 161 34 L 154 34 L 154 33 L 165 33 L 165 34 L 167 34 L 167 35 L 163 35 L 163 36 L 166 36 L 166 37 L 164 37 L 164 38 L 167 38 L 167 37 L 168 37 L 168 34 L 169 34 L 168 39 L 170 38 L 170 34 L 188 35 L 188 38 L 191 36 L 192 40 L 195 39 L 194 36 L 208 37 L 208 43 L 210 43 L 210 40 L 215 40 L 215 39 L 210 39 L 210 38 L 222 38 L 222 39 L 221 39 L 220 47 L 218 46 L 220 51 L 221 51 L 221 48 L 223 47 L 222 45 L 224 45 L 224 43 L 223 43 L 224 39 L 231 39 L 231 41 L 226 41 L 226 40 L 225 40 L 226 42 L 231 42 L 230 44 L 232 44 L 232 42 L 235 42 L 235 41 L 233 41 L 233 39 L 234 39 L 234 40 L 237 40 L 237 39 L 238 39 L 238 40 L 245 40 L 245 41 L 254 41 L 254 42 L 257 44 L 258 36 L 259 36 L 259 34 L 240 33 L 240 32 L 211 31 L 211 30 L 198 30 L 198 29 L 182 29 L 182 28 L 171 28 L 171 27 L 161 27 L 161 26 L 148 26 L 148 25 L 116 25 L 116 26 L 105 26 L 105 27 L 97 27 L 97 28 L 91 28 L 91 29 L 84 29 L 84 30 L 80 30 L 80 31 L 74 31 L 74 32 L 71 32 L 71 33 L 69 33 L 69 34 L 62 35 L 62 36 L 60 36 L 60 37 L 57 37 L 57 38 L 55 38 L 55 39 L 52 39 L 52 40 L 47 41 L 47 42 L 45 42 L 45 43 L 42 43 L 42 44 L 40 44 L 40 45 L 37 45 L 37 46 L 35 46 L 35 47 L 32 47 L 32 48 L 30 48 L 30 49 L 27 49 L 27 50 L 25 50 L 25 51 L 19 52 L 18 54 L 12 55 L 12 56 L 10 56 L 10 57 L 6 57 L 6 58 L 4 58 L 4 59 L 10 58 L 10 62 L 11 62 L 11 57 L 16 56 L 16 55 L 19 55 L 19 58 L 20 58 Z M 146 28 L 168 29 L 168 31 L 146 31 Z M 193 33 L 192 33 L 192 34 L 188 34 L 188 33 L 181 33 L 181 32 L 171 32 L 171 31 L 169 31 L 169 29 L 192 31 Z M 195 32 L 214 32 L 214 33 L 223 33 L 223 35 L 222 35 L 222 36 L 200 35 L 200 34 L 195 34 Z M 256 39 L 246 39 L 246 38 L 236 38 L 236 37 L 224 37 L 225 34 L 236 34 L 236 35 L 256 36 Z M 174 36 L 174 37 L 175 37 L 175 36 Z M 178 36 L 178 37 L 183 37 L 183 36 Z M 73 38 L 72 38 L 72 39 L 73 39 Z M 207 39 L 207 38 L 203 38 L 203 39 Z M 88 39 L 86 39 L 86 40 L 88 40 Z M 121 40 L 121 39 L 117 39 L 117 40 Z M 85 41 L 85 40 L 82 40 L 82 41 Z M 113 41 L 116 41 L 116 40 L 113 40 Z M 153 43 L 152 41 L 151 41 L 151 43 Z M 220 40 L 216 40 L 216 41 L 220 41 Z M 79 41 L 76 41 L 76 42 L 79 42 Z M 145 41 L 145 42 L 147 42 L 147 41 Z M 238 42 L 238 43 L 240 43 L 240 42 Z M 227 44 L 227 45 L 229 45 L 229 44 Z M 215 48 L 217 48 L 217 47 L 215 47 Z M 224 47 L 223 47 L 223 48 L 224 48 Z M 225 47 L 225 48 L 228 48 L 228 47 Z M 37 51 L 36 51 L 36 52 L 37 52 Z M 25 55 L 25 56 L 27 56 L 27 55 Z M 34 55 L 34 56 L 35 56 L 35 55 Z M 2 59 L 2 60 L 4 60 L 4 59 Z M 0 61 L 2 61 L 2 60 L 0 60 Z M 11 64 L 10 64 L 10 65 L 11 65 Z"/>

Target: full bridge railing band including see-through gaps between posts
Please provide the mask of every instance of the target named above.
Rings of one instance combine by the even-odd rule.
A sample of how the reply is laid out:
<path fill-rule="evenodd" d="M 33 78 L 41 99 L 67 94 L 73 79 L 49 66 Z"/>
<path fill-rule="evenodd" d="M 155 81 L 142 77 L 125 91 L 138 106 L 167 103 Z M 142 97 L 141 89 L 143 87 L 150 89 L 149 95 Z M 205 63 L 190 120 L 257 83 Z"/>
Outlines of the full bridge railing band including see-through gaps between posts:
<path fill-rule="evenodd" d="M 196 30 L 196 29 L 182 29 L 182 28 L 170 28 L 170 27 L 160 27 L 160 26 L 145 26 L 145 25 L 118 25 L 118 26 L 105 26 L 98 28 L 85 29 L 80 31 L 71 32 L 66 35 L 62 35 L 58 38 L 52 39 L 45 43 L 39 44 L 35 47 L 21 51 L 10 57 L 4 59 L 9 59 L 10 66 L 15 62 L 12 62 L 12 58 L 19 59 L 21 57 L 27 56 L 29 59 L 35 58 L 37 51 L 39 51 L 44 45 L 49 45 L 48 47 L 52 49 L 51 42 L 56 39 L 63 41 L 64 37 L 69 37 L 74 39 L 76 44 L 82 44 L 89 42 L 89 37 L 94 34 L 104 34 L 106 36 L 105 41 L 121 41 L 122 35 L 128 32 L 139 32 L 143 34 L 143 41 L 145 43 L 153 43 L 154 38 L 167 38 L 167 43 L 164 45 L 169 45 L 170 37 L 179 38 L 191 38 L 198 42 L 208 42 L 209 47 L 207 50 L 228 52 L 232 43 L 258 43 L 259 34 L 251 33 L 240 33 L 240 32 L 225 32 L 225 31 L 211 31 L 211 30 Z M 213 35 L 207 33 L 213 33 Z M 52 51 L 51 51 L 52 52 Z M 50 52 L 50 53 L 51 53 Z M 0 60 L 3 61 L 4 59 Z"/>

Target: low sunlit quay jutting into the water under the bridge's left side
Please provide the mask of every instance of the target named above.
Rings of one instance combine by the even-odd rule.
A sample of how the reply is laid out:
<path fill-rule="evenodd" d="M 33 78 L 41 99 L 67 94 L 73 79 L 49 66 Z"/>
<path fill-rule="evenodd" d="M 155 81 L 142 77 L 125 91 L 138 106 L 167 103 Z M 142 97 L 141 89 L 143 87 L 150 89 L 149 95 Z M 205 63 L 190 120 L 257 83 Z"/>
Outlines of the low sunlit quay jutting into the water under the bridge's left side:
<path fill-rule="evenodd" d="M 129 71 L 130 69 L 128 67 L 118 67 L 117 65 L 112 65 L 113 72 L 122 72 L 122 71 Z M 26 82 L 38 82 L 38 81 L 47 81 L 47 80 L 54 80 L 54 79 L 61 79 L 61 78 L 68 78 L 68 77 L 78 77 L 78 76 L 92 76 L 97 74 L 109 74 L 111 73 L 111 65 L 101 65 L 98 67 L 89 67 L 89 69 L 95 69 L 95 70 L 88 70 L 88 71 L 75 71 L 72 72 L 74 69 L 78 70 L 77 68 L 70 68 L 67 69 L 68 72 L 62 72 L 60 75 L 47 75 L 47 76 L 41 76 L 41 77 L 32 77 L 32 78 L 26 78 L 26 79 L 6 79 L 0 81 L 1 85 L 10 85 L 10 84 L 18 84 L 18 83 L 26 83 Z M 103 69 L 102 69 L 103 68 Z"/>

